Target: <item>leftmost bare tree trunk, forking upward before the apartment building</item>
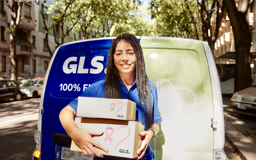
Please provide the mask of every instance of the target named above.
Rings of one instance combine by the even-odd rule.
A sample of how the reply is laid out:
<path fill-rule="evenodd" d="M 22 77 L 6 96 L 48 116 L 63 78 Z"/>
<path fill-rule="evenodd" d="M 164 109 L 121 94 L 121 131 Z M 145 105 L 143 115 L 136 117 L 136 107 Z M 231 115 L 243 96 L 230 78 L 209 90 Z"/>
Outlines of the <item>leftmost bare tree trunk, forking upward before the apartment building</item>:
<path fill-rule="evenodd" d="M 9 1 L 5 0 L 5 4 L 11 12 L 10 27 L 7 31 L 10 32 L 10 60 L 11 60 L 11 80 L 18 80 L 18 59 L 16 57 L 16 33 L 17 28 L 22 20 L 21 10 L 24 0 L 12 1 L 12 5 Z"/>

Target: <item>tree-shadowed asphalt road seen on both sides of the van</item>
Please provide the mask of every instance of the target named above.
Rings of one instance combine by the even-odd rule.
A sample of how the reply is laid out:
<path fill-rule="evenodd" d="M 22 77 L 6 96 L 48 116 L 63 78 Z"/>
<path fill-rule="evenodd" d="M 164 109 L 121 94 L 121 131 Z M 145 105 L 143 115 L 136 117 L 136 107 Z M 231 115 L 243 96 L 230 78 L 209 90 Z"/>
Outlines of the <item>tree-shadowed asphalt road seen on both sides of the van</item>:
<path fill-rule="evenodd" d="M 0 160 L 31 160 L 40 98 L 0 102 Z M 228 160 L 241 160 L 226 142 Z"/>

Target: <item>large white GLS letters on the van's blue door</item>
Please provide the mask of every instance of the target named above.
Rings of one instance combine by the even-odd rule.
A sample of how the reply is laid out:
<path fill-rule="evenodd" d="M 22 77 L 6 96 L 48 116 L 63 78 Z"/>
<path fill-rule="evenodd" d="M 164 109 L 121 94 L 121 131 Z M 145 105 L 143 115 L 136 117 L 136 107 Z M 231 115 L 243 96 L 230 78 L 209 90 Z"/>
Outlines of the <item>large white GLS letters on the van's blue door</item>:
<path fill-rule="evenodd" d="M 70 57 L 65 60 L 63 64 L 63 72 L 66 74 L 70 73 L 76 73 L 77 69 L 77 64 L 70 64 L 70 62 L 74 61 L 76 62 L 77 57 Z M 92 59 L 91 64 L 93 67 L 96 67 L 97 69 L 90 69 L 91 74 L 98 74 L 103 70 L 103 64 L 97 61 L 103 61 L 104 57 L 103 56 L 96 56 Z M 88 73 L 89 69 L 84 69 L 84 62 L 85 62 L 85 57 L 80 57 L 79 64 L 78 64 L 78 69 L 77 73 Z M 69 65 L 69 66 L 68 66 Z"/>

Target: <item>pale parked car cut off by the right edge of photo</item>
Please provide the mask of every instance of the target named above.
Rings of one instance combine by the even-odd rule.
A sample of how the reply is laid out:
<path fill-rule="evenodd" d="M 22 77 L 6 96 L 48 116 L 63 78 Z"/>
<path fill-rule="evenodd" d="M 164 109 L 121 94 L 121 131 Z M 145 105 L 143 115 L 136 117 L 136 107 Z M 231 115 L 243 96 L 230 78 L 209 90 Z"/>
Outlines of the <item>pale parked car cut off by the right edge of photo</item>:
<path fill-rule="evenodd" d="M 234 93 L 230 101 L 238 114 L 256 116 L 256 85 Z"/>

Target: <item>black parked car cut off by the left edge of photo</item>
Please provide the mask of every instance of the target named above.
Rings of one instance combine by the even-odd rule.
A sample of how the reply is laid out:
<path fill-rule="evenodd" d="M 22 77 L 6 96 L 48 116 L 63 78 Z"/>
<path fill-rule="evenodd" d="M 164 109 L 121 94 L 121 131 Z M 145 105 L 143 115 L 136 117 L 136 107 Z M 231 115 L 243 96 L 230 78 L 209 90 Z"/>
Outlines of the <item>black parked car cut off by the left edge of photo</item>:
<path fill-rule="evenodd" d="M 22 92 L 19 82 L 15 80 L 0 80 L 0 100 L 12 99 L 20 101 Z"/>

